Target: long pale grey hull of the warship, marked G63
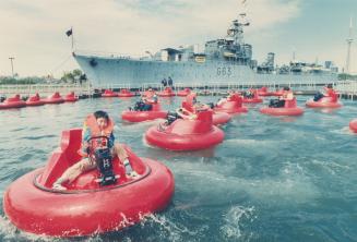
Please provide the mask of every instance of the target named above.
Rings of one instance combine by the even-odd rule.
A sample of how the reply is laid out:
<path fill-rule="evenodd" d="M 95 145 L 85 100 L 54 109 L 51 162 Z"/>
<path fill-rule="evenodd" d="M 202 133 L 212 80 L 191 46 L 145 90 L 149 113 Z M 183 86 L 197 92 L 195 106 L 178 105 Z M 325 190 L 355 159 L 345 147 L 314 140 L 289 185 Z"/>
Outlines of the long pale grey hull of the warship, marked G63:
<path fill-rule="evenodd" d="M 283 85 L 337 81 L 334 73 L 259 74 L 248 65 L 230 61 L 151 61 L 130 58 L 73 55 L 94 86 L 158 84 L 170 76 L 174 84 Z"/>

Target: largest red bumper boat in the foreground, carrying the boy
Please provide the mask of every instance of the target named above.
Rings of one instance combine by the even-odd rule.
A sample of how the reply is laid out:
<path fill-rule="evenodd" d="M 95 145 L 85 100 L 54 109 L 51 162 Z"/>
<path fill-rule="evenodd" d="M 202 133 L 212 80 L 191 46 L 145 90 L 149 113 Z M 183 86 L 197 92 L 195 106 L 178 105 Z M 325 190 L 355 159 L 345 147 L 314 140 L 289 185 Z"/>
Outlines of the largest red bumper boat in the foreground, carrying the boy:
<path fill-rule="evenodd" d="M 158 161 L 138 157 L 127 146 L 139 177 L 127 178 L 116 158 L 112 184 L 100 185 L 99 171 L 94 169 L 78 177 L 67 190 L 53 190 L 53 182 L 81 160 L 81 129 L 63 131 L 60 147 L 46 166 L 24 174 L 7 189 L 3 210 L 20 230 L 51 237 L 117 231 L 170 203 L 175 190 L 170 170 Z"/>

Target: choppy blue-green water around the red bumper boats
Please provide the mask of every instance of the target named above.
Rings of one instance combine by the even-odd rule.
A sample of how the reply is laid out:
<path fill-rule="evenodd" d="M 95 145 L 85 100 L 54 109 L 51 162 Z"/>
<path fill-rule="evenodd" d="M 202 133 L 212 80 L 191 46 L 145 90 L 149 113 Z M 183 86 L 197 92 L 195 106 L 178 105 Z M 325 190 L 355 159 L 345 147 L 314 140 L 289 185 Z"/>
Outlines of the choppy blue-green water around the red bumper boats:
<path fill-rule="evenodd" d="M 302 106 L 307 97 L 298 99 Z M 357 135 L 348 130 L 357 118 L 355 102 L 334 112 L 306 109 L 299 118 L 267 117 L 251 106 L 222 126 L 226 137 L 216 148 L 172 153 L 144 144 L 153 122 L 121 122 L 120 112 L 133 101 L 85 99 L 0 111 L 1 196 L 15 179 L 44 166 L 62 130 L 104 109 L 119 141 L 171 169 L 176 191 L 163 213 L 79 241 L 357 241 Z M 174 110 L 180 98 L 163 102 Z M 0 209 L 0 240 L 52 241 L 16 230 Z"/>

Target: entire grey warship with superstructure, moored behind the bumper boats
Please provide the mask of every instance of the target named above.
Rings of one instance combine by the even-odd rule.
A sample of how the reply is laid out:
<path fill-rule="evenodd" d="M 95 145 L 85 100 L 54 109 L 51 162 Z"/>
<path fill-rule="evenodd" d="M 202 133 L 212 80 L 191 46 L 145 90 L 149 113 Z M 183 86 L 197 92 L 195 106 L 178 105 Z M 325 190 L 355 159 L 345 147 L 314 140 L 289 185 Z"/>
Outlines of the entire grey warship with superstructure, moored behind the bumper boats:
<path fill-rule="evenodd" d="M 238 14 L 225 38 L 205 43 L 204 51 L 197 46 L 165 48 L 154 55 L 133 58 L 73 51 L 73 57 L 94 86 L 142 86 L 159 83 L 170 76 L 176 84 L 325 84 L 337 80 L 333 62 L 324 65 L 293 60 L 276 66 L 275 55 L 258 64 L 252 59 L 252 46 L 243 40 L 243 28 L 250 25 L 246 13 Z"/>

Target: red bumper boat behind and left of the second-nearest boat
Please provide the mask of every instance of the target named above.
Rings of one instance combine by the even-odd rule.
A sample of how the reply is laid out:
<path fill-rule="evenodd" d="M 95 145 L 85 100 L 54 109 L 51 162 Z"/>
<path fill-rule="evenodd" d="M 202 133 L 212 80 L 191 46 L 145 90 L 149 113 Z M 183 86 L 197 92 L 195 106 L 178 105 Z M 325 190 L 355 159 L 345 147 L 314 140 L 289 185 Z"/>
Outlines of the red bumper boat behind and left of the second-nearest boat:
<path fill-rule="evenodd" d="M 150 111 L 126 110 L 121 112 L 121 119 L 128 122 L 143 122 L 155 119 L 165 119 L 167 111 L 162 110 L 159 102 L 152 104 L 153 108 Z"/>

